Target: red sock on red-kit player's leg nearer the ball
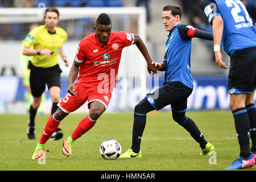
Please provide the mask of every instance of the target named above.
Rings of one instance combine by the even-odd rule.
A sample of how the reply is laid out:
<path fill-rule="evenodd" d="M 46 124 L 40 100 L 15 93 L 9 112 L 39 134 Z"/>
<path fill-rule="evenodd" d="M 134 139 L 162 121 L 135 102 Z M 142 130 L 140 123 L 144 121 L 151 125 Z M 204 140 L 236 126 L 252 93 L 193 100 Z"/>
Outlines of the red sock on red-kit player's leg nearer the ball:
<path fill-rule="evenodd" d="M 77 126 L 76 130 L 73 132 L 71 138 L 73 140 L 76 140 L 77 138 L 81 137 L 83 134 L 89 131 L 95 125 L 95 123 L 96 121 L 92 121 L 92 119 L 90 119 L 88 115 L 79 123 L 79 126 Z"/>

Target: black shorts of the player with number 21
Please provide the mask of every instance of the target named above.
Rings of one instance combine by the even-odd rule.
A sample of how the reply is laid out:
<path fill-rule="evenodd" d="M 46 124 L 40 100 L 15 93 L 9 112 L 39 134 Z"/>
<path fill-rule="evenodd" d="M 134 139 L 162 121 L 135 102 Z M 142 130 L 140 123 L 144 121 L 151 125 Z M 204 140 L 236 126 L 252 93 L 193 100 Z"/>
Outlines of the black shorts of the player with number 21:
<path fill-rule="evenodd" d="M 251 94 L 256 89 L 256 47 L 235 51 L 230 57 L 229 94 Z"/>

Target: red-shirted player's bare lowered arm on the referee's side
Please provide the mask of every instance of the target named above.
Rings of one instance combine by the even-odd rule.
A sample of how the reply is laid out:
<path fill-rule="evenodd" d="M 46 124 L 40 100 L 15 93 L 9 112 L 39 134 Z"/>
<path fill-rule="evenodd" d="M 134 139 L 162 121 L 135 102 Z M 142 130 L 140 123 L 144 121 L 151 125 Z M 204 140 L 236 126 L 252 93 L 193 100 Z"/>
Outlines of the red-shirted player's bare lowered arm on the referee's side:
<path fill-rule="evenodd" d="M 71 94 L 71 96 L 76 96 L 76 94 L 77 94 L 77 92 L 74 92 L 74 90 L 75 90 L 74 82 L 79 73 L 79 66 L 80 66 L 80 63 L 78 63 L 76 60 L 74 60 L 72 67 L 69 71 L 68 93 Z"/>

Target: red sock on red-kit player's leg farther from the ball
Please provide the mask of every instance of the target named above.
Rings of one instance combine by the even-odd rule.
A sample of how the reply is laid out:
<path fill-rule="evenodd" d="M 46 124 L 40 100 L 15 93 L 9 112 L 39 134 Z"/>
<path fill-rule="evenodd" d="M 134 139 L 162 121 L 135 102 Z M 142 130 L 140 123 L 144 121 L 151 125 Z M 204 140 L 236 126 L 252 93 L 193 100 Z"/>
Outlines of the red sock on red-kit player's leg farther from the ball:
<path fill-rule="evenodd" d="M 57 130 L 59 125 L 60 125 L 60 121 L 54 120 L 53 114 L 52 114 L 46 123 L 46 127 L 44 128 L 44 131 L 39 143 L 40 144 L 46 143 L 47 140 L 51 137 L 51 135 Z"/>

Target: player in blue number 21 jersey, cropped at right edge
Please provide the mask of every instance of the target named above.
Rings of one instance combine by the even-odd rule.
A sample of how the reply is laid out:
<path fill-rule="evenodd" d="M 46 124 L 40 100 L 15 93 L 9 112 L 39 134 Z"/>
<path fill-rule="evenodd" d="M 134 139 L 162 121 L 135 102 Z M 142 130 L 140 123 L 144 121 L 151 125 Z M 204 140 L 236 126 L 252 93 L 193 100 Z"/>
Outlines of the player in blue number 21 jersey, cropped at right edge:
<path fill-rule="evenodd" d="M 256 88 L 256 23 L 241 1 L 205 0 L 201 7 L 212 24 L 216 63 L 221 68 L 227 68 L 222 61 L 221 44 L 230 56 L 230 110 L 240 144 L 240 156 L 226 169 L 251 167 L 256 158 L 256 109 L 253 103 Z"/>

